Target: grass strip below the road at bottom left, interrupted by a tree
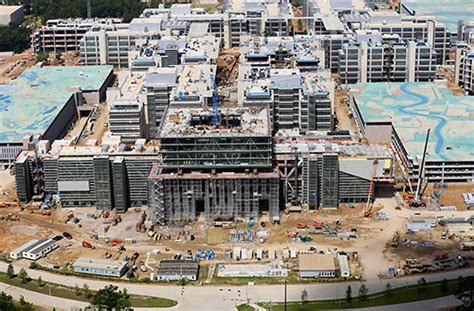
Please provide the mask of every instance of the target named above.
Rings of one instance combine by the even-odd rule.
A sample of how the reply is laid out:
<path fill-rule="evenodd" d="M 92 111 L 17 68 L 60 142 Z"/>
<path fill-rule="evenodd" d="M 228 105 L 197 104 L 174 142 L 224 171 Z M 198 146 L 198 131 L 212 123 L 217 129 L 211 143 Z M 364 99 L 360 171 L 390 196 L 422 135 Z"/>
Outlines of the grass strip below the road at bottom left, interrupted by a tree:
<path fill-rule="evenodd" d="M 38 280 L 30 280 L 26 284 L 22 283 L 18 277 L 10 279 L 6 273 L 0 272 L 0 282 L 12 286 L 21 287 L 29 291 L 42 293 L 45 295 L 61 297 L 65 299 L 89 302 L 85 291 L 82 288 L 72 288 L 50 282 L 38 282 Z M 90 291 L 94 294 L 94 291 Z M 130 295 L 130 303 L 132 307 L 148 307 L 148 308 L 169 308 L 177 304 L 176 301 L 160 297 L 148 297 L 140 295 Z"/>

